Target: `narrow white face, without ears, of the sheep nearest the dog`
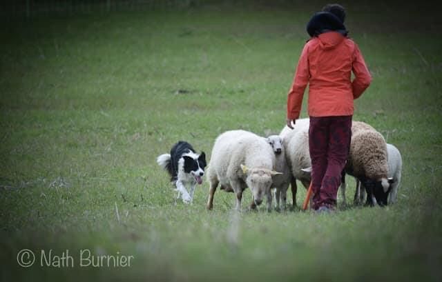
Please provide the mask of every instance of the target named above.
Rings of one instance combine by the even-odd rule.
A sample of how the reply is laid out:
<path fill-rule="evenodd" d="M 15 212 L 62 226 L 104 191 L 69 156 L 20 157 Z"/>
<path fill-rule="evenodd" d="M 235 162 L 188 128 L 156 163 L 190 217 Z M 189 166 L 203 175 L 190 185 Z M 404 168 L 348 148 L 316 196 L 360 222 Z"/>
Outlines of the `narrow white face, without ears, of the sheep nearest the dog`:
<path fill-rule="evenodd" d="M 252 169 L 247 175 L 246 182 L 256 205 L 260 205 L 265 195 L 270 191 L 271 174 L 268 171 Z"/>

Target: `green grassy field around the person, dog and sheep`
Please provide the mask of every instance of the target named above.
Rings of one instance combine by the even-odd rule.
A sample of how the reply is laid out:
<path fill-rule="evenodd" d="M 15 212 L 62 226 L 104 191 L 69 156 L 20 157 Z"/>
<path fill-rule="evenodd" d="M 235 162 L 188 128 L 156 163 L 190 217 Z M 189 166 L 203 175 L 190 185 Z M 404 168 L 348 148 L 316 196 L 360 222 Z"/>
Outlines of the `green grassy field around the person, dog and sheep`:
<path fill-rule="evenodd" d="M 180 139 L 210 156 L 225 130 L 279 132 L 305 23 L 323 4 L 3 23 L 1 281 L 441 281 L 442 22 L 429 4 L 346 5 L 374 77 L 354 119 L 403 154 L 395 205 L 237 214 L 218 190 L 208 212 L 208 183 L 193 205 L 175 203 L 155 163 Z M 68 250 L 74 267 L 41 265 L 41 250 Z M 81 250 L 133 257 L 81 267 Z"/>

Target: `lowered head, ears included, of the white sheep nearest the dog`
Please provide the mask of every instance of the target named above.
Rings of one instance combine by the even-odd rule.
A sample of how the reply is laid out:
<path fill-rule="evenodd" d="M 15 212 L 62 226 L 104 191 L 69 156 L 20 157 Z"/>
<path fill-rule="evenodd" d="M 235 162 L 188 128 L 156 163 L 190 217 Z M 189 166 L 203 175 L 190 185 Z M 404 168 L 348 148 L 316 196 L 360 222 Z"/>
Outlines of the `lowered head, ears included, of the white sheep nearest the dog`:
<path fill-rule="evenodd" d="M 241 165 L 241 169 L 247 177 L 246 184 L 253 194 L 256 205 L 260 205 L 265 195 L 270 192 L 273 183 L 271 177 L 282 174 L 267 168 L 247 168 L 245 165 Z"/>

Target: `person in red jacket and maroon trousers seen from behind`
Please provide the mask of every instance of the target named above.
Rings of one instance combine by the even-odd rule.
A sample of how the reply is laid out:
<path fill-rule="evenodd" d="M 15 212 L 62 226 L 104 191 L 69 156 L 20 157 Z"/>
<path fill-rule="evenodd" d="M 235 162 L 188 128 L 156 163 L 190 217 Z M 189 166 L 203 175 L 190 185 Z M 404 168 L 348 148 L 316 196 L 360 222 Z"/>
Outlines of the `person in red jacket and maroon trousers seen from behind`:
<path fill-rule="evenodd" d="M 336 208 L 352 137 L 353 101 L 372 81 L 361 50 L 347 37 L 344 21 L 345 10 L 338 4 L 325 6 L 310 19 L 311 39 L 302 50 L 287 97 L 287 126 L 293 129 L 309 84 L 312 208 L 319 211 Z"/>

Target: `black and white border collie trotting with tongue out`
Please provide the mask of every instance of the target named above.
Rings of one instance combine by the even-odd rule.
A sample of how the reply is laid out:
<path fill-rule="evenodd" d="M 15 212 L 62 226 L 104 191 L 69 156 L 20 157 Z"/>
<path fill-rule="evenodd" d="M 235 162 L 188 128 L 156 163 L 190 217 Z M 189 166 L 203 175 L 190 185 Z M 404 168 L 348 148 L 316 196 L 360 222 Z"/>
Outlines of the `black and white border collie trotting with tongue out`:
<path fill-rule="evenodd" d="M 184 203 L 191 203 L 196 184 L 202 183 L 206 154 L 197 154 L 191 144 L 178 141 L 173 145 L 170 154 L 157 157 L 157 163 L 171 175 L 171 181 L 178 191 L 177 199 L 182 197 Z"/>

